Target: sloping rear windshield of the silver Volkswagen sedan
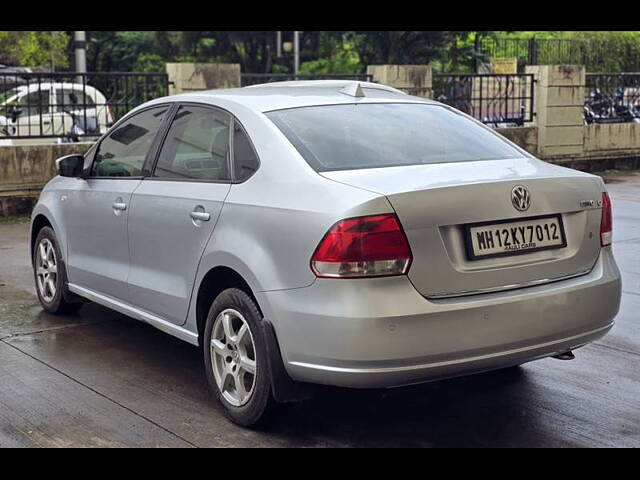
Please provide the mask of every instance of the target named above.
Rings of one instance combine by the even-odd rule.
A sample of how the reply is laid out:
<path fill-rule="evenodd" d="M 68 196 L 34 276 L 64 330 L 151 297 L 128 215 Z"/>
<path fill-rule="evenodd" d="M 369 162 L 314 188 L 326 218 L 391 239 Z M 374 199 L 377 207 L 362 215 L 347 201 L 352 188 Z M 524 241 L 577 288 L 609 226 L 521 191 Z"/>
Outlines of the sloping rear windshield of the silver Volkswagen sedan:
<path fill-rule="evenodd" d="M 322 105 L 266 115 L 319 172 L 523 155 L 491 131 L 438 105 Z"/>

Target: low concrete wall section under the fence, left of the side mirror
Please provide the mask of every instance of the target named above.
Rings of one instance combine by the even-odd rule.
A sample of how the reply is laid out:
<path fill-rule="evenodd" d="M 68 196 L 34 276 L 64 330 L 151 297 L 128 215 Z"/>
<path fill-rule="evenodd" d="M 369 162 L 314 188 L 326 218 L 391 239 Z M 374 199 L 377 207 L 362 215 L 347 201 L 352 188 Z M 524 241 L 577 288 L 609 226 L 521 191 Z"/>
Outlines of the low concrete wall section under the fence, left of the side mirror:
<path fill-rule="evenodd" d="M 55 160 L 84 153 L 91 143 L 0 147 L 0 216 L 29 213 L 40 190 L 56 175 Z"/>

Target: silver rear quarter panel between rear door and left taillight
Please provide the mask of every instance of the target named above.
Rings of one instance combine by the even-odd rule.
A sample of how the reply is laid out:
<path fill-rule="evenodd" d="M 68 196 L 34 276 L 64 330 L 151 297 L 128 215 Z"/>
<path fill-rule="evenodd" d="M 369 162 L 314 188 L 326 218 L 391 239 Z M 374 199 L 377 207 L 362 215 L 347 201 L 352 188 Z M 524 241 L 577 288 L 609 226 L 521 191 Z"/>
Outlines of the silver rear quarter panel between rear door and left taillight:
<path fill-rule="evenodd" d="M 393 212 L 384 195 L 317 174 L 264 115 L 233 113 L 254 144 L 260 168 L 231 186 L 198 268 L 187 320 L 192 331 L 195 292 L 211 269 L 232 268 L 255 293 L 305 287 L 316 279 L 311 256 L 335 222 Z"/>

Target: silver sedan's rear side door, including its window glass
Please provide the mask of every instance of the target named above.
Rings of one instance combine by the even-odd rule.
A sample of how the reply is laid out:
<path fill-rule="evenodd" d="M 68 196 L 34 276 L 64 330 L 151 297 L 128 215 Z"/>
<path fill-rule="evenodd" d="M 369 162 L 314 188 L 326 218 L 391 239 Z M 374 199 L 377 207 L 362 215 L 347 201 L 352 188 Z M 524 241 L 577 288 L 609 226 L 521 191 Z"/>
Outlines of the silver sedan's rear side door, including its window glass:
<path fill-rule="evenodd" d="M 131 302 L 178 325 L 231 186 L 231 123 L 222 110 L 181 105 L 151 176 L 132 198 Z"/>

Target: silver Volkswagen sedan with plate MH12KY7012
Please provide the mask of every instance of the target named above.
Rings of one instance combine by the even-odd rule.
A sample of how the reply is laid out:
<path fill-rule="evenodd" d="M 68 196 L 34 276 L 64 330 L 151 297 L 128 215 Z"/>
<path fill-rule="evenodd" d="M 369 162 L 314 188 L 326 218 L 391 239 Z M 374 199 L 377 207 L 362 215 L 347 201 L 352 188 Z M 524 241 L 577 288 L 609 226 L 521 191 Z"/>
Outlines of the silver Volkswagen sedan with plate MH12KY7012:
<path fill-rule="evenodd" d="M 57 164 L 32 216 L 44 309 L 93 301 L 200 346 L 242 425 L 311 384 L 568 358 L 618 311 L 599 177 L 383 85 L 159 98 Z"/>

